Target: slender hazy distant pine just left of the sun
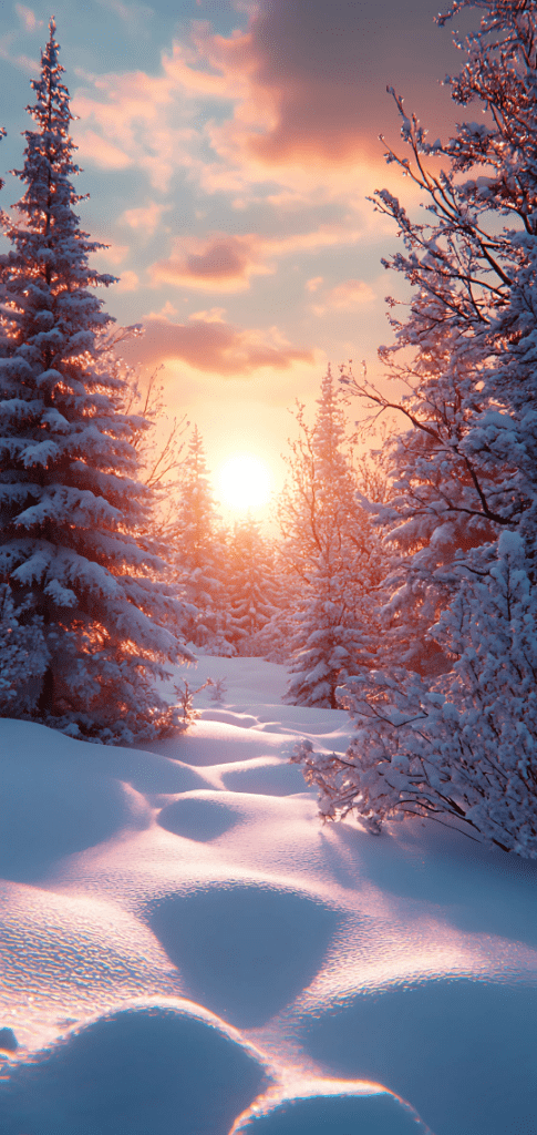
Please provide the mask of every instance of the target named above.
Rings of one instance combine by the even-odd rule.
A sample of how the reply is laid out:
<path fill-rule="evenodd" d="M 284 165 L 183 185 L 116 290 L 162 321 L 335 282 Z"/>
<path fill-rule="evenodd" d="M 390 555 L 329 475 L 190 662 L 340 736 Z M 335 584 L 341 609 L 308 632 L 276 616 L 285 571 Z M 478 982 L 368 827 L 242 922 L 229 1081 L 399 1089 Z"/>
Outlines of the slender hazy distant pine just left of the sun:
<path fill-rule="evenodd" d="M 182 624 L 187 640 L 216 655 L 235 654 L 225 634 L 225 535 L 197 426 L 180 471 L 170 538 L 179 588 L 189 606 Z"/>

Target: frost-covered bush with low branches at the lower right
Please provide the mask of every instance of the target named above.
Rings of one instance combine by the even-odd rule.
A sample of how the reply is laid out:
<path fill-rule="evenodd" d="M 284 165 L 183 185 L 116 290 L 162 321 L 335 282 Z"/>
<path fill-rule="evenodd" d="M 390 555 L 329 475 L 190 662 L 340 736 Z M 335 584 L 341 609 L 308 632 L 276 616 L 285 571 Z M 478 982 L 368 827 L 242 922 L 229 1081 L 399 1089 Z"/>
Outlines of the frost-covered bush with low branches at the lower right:
<path fill-rule="evenodd" d="M 373 823 L 431 816 L 537 858 L 537 592 L 520 537 L 505 532 L 481 578 L 467 578 L 432 629 L 455 657 L 427 681 L 403 669 L 355 678 L 344 758 L 302 747 L 321 813 Z"/>

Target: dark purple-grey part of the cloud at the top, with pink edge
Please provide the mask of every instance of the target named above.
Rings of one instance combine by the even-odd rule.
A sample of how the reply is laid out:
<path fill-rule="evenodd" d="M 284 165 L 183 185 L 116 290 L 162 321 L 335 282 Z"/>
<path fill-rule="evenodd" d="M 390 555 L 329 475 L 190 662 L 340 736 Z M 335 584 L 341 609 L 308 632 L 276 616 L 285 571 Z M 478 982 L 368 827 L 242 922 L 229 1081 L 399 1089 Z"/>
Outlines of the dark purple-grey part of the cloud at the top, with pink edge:
<path fill-rule="evenodd" d="M 399 125 L 386 84 L 403 84 L 403 93 L 414 94 L 438 61 L 452 64 L 449 33 L 443 37 L 434 28 L 433 15 L 431 0 L 410 8 L 386 0 L 308 0 L 305 19 L 304 0 L 271 0 L 252 10 L 246 32 L 222 36 L 199 23 L 194 39 L 201 58 L 228 84 L 237 83 L 232 118 L 212 127 L 214 148 L 228 159 L 241 154 L 271 168 L 380 162 L 378 133 Z M 429 110 L 435 102 L 450 104 L 437 84 Z"/>

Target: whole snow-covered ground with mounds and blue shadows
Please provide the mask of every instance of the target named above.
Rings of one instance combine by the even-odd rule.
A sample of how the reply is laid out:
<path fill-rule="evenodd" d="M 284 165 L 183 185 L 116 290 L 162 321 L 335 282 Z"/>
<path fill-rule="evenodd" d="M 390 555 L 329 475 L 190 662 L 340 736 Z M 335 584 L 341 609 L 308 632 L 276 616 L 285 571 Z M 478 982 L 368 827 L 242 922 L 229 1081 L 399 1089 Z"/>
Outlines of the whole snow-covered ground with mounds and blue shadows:
<path fill-rule="evenodd" d="M 321 826 L 347 715 L 181 676 L 224 704 L 151 753 L 0 721 L 0 1135 L 536 1135 L 537 865 Z"/>

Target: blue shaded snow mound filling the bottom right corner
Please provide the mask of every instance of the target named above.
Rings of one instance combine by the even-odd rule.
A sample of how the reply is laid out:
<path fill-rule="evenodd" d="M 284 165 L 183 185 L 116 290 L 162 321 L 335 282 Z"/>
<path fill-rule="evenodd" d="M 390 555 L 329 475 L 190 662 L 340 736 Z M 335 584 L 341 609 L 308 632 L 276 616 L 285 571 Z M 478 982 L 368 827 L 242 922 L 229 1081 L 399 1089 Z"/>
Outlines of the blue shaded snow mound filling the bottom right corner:
<path fill-rule="evenodd" d="M 310 1019 L 302 1041 L 338 1075 L 411 1100 L 435 1133 L 513 1130 L 513 1101 L 537 1116 L 537 983 L 451 977 L 359 993 Z"/>

